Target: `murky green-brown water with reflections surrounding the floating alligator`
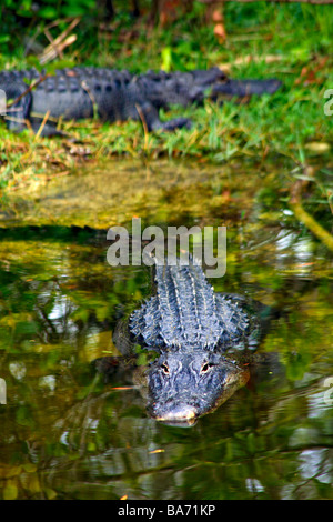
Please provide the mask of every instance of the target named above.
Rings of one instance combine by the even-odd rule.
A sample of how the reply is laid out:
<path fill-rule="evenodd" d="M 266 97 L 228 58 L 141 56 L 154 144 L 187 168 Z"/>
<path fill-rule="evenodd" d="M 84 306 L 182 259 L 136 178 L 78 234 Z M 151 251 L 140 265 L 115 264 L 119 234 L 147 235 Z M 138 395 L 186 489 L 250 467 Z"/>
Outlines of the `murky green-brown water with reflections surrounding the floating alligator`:
<path fill-rule="evenodd" d="M 332 255 L 270 169 L 110 162 L 17 193 L 0 230 L 3 498 L 333 498 Z M 215 290 L 279 310 L 246 387 L 188 429 L 150 419 L 130 372 L 104 384 L 91 364 L 149 295 L 145 267 L 105 260 L 105 230 L 133 215 L 226 225 Z"/>

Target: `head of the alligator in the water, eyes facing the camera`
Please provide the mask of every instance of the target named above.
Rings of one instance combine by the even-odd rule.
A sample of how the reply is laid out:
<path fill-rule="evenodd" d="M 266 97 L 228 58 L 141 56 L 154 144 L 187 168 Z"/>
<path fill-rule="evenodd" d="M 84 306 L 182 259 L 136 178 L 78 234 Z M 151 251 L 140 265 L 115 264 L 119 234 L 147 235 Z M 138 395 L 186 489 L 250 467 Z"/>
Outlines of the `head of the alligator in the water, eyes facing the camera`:
<path fill-rule="evenodd" d="M 148 371 L 149 414 L 168 424 L 192 425 L 249 379 L 222 353 L 202 349 L 163 352 Z"/>

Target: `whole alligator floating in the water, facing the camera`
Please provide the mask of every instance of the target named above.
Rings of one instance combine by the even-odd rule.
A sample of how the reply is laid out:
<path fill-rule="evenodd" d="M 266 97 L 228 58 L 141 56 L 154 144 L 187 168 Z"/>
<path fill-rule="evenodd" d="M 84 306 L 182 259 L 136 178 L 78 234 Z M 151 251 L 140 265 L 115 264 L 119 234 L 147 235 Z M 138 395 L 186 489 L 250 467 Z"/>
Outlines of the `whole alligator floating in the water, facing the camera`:
<path fill-rule="evenodd" d="M 149 414 L 192 424 L 248 381 L 249 354 L 262 334 L 265 307 L 214 292 L 192 259 L 157 263 L 154 273 L 155 294 L 121 323 L 114 341 L 124 353 L 129 330 L 133 343 L 159 352 L 140 380 L 148 384 Z M 97 368 L 105 374 L 113 363 L 101 358 Z"/>

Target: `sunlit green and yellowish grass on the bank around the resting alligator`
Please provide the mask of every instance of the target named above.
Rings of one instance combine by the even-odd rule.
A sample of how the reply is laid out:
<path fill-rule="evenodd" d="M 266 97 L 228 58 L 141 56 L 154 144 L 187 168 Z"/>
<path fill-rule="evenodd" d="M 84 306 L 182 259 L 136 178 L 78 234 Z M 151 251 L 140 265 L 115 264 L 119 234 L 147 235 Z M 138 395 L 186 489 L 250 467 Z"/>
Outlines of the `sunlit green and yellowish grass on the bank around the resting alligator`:
<path fill-rule="evenodd" d="M 46 172 L 52 175 L 65 171 L 85 158 L 125 154 L 152 160 L 168 155 L 223 163 L 238 157 L 262 161 L 282 154 L 295 164 L 305 164 L 317 154 L 329 158 L 333 116 L 324 114 L 324 92 L 333 88 L 331 7 L 228 3 L 224 43 L 218 42 L 213 27 L 200 18 L 203 9 L 195 3 L 189 17 L 154 29 L 148 29 L 144 17 L 133 26 L 120 13 L 113 32 L 98 36 L 83 18 L 78 40 L 62 63 L 137 72 L 165 64 L 171 70 L 228 64 L 233 78 L 280 78 L 282 90 L 272 97 L 252 99 L 249 104 L 225 102 L 218 107 L 208 101 L 201 108 L 173 108 L 162 118 L 188 116 L 193 121 L 191 130 L 175 133 L 147 135 L 142 126 L 132 121 L 113 126 L 67 122 L 63 130 L 78 140 L 73 143 L 69 139 L 37 138 L 29 131 L 14 135 L 1 124 L 2 190 L 14 189 Z M 24 57 L 23 51 L 20 42 L 14 53 L 3 47 L 0 68 L 34 63 L 36 59 Z"/>

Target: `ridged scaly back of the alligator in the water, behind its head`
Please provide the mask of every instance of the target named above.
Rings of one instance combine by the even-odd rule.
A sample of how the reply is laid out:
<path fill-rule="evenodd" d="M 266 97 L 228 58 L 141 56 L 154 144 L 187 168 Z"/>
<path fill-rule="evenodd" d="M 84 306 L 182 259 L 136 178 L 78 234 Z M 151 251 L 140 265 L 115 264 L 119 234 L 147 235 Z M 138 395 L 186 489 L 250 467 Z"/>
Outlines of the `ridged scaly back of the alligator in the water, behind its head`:
<path fill-rule="evenodd" d="M 157 295 L 130 319 L 132 334 L 144 347 L 212 351 L 246 332 L 249 319 L 238 300 L 216 294 L 191 259 L 189 265 L 157 264 L 155 283 Z"/>

